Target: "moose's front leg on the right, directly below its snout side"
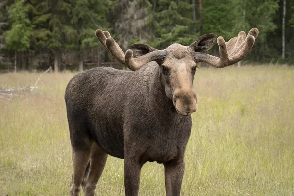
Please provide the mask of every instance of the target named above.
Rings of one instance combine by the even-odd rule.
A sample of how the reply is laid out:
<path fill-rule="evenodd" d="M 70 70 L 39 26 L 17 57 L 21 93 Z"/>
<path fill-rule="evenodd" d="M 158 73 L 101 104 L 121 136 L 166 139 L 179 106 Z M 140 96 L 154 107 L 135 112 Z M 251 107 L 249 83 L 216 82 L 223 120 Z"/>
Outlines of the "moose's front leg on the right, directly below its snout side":
<path fill-rule="evenodd" d="M 169 161 L 164 164 L 167 196 L 180 196 L 184 170 L 184 160 Z"/>

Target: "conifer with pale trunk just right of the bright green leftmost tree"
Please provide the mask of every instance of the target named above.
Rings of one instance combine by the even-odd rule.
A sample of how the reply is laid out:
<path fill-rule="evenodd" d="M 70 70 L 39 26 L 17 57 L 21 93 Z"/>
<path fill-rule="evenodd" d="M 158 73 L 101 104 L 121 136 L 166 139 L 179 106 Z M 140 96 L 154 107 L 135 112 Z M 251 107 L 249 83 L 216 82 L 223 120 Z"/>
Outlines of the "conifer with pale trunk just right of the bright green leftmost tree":
<path fill-rule="evenodd" d="M 58 72 L 62 50 L 76 35 L 70 25 L 72 5 L 69 0 L 38 0 L 34 7 L 35 45 L 52 51 L 54 71 Z"/>

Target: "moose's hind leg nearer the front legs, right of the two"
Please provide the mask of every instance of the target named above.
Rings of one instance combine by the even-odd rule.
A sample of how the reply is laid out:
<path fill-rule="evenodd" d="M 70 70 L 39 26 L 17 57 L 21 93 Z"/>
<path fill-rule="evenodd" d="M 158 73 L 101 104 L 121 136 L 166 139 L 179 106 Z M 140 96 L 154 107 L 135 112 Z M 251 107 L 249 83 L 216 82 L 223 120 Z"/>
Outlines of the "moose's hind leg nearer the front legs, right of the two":
<path fill-rule="evenodd" d="M 108 154 L 104 152 L 97 144 L 94 144 L 90 155 L 90 168 L 82 182 L 84 196 L 94 196 L 95 188 L 100 179 Z"/>

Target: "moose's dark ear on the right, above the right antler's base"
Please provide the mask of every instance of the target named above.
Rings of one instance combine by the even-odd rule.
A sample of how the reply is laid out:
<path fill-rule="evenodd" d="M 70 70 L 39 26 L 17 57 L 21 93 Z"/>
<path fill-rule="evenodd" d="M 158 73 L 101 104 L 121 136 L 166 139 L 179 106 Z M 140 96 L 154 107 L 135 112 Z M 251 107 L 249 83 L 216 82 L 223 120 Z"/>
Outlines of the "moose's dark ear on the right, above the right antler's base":
<path fill-rule="evenodd" d="M 207 52 L 213 47 L 214 41 L 216 39 L 216 34 L 205 34 L 200 36 L 195 42 L 193 42 L 189 46 L 189 48 L 196 52 Z"/>

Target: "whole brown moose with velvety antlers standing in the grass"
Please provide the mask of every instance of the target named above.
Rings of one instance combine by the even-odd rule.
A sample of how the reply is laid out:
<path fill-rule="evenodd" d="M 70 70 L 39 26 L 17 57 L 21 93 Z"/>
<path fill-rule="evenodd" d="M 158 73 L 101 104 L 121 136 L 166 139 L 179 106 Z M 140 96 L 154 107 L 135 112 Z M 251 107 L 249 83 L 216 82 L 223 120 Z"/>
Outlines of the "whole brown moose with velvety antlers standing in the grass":
<path fill-rule="evenodd" d="M 131 71 L 97 67 L 75 75 L 65 102 L 72 146 L 70 196 L 94 196 L 107 156 L 124 159 L 126 196 L 138 196 L 140 170 L 147 161 L 164 165 L 167 196 L 179 196 L 191 114 L 197 110 L 193 87 L 196 63 L 224 68 L 251 50 L 258 30 L 240 32 L 225 42 L 215 34 L 200 36 L 190 46 L 172 44 L 157 50 L 133 44 L 124 53 L 109 32 L 96 37 Z M 207 52 L 217 39 L 220 57 Z"/>

